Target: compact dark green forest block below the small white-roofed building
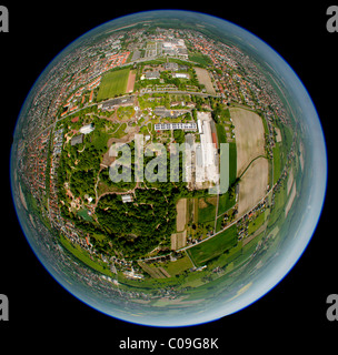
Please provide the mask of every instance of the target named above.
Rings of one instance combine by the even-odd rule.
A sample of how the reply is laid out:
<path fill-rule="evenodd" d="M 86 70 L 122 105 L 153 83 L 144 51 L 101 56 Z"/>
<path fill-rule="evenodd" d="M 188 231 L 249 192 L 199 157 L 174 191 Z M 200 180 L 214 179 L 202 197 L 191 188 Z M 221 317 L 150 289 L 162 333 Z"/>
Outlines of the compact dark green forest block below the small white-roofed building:
<path fill-rule="evenodd" d="M 96 215 L 125 257 L 142 256 L 175 232 L 175 202 L 160 190 L 137 189 L 135 203 L 123 203 L 120 195 L 106 195 L 100 199 Z"/>

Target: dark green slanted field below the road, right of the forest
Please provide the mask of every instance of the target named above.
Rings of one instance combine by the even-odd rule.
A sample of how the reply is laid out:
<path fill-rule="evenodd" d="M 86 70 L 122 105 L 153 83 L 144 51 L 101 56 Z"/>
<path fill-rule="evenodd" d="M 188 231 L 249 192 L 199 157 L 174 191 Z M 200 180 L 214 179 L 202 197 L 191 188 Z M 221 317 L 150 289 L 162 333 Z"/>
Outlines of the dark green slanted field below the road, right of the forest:
<path fill-rule="evenodd" d="M 202 266 L 208 261 L 220 256 L 237 244 L 237 226 L 232 225 L 207 242 L 187 250 L 195 265 Z"/>

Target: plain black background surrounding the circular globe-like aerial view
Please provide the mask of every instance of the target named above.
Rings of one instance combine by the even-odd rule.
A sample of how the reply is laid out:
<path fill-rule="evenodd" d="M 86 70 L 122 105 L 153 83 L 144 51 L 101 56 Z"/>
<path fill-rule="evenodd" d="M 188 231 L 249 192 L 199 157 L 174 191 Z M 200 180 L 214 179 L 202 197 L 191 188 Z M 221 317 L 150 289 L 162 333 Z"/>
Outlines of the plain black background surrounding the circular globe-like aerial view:
<path fill-rule="evenodd" d="M 320 353 L 337 342 L 338 322 L 326 318 L 326 298 L 338 293 L 337 172 L 338 152 L 338 32 L 326 30 L 330 2 L 188 1 L 161 2 L 18 2 L 0 1 L 9 10 L 9 33 L 0 33 L 0 294 L 9 297 L 9 322 L 0 322 L 0 342 L 33 349 L 92 345 L 106 354 L 119 351 L 121 339 L 170 337 L 219 338 L 218 351 L 302 352 L 315 345 Z M 70 42 L 117 17 L 153 9 L 200 11 L 229 20 L 272 47 L 295 70 L 319 114 L 328 153 L 328 185 L 321 219 L 311 242 L 290 273 L 267 295 L 222 320 L 183 328 L 156 328 L 115 320 L 84 305 L 63 290 L 44 270 L 26 242 L 14 212 L 9 156 L 14 124 L 34 81 L 48 63 Z M 29 336 L 30 341 L 22 343 Z M 34 342 L 31 342 L 34 339 Z M 40 344 L 40 345 L 37 345 Z M 337 343 L 336 343 L 337 344 Z M 173 353 L 158 348 L 155 354 Z M 180 353 L 185 353 L 180 351 Z"/>

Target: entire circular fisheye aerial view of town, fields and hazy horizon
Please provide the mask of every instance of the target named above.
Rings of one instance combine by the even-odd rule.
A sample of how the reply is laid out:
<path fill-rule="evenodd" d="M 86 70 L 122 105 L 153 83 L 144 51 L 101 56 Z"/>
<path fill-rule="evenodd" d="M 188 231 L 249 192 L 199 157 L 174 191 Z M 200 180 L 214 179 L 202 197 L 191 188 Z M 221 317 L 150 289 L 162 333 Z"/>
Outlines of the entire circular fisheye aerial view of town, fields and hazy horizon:
<path fill-rule="evenodd" d="M 37 257 L 72 295 L 131 323 L 238 312 L 301 256 L 327 158 L 292 69 L 242 28 L 160 10 L 67 47 L 29 92 L 12 196 Z"/>

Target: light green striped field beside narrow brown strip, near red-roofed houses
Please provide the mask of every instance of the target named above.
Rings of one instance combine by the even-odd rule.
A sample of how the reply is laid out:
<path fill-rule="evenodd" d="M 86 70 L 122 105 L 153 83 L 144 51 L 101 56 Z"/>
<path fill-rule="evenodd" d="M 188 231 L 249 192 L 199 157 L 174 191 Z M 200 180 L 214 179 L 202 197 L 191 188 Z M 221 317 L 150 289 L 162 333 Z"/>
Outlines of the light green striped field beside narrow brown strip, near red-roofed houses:
<path fill-rule="evenodd" d="M 121 69 L 108 72 L 101 81 L 98 101 L 115 98 L 126 93 L 130 69 Z"/>

